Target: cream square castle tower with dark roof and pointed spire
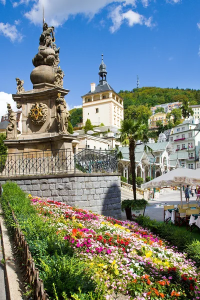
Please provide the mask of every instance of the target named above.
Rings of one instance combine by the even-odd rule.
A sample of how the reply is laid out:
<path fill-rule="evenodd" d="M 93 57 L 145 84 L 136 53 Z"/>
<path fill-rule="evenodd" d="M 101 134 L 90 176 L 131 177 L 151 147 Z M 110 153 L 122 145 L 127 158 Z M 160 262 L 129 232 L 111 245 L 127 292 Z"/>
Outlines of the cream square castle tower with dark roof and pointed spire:
<path fill-rule="evenodd" d="M 123 120 L 123 99 L 106 80 L 106 65 L 102 61 L 99 65 L 99 84 L 91 83 L 91 89 L 82 96 L 82 117 L 83 125 L 90 119 L 92 125 L 114 126 L 120 128 L 120 121 Z"/>

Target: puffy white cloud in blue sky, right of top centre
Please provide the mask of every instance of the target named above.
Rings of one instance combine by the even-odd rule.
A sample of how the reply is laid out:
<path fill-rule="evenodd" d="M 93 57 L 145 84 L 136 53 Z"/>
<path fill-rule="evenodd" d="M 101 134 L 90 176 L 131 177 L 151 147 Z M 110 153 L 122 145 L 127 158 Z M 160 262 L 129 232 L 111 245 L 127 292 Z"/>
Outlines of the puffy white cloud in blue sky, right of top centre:
<path fill-rule="evenodd" d="M 124 20 L 127 21 L 128 25 L 132 27 L 135 24 L 146 25 L 147 27 L 152 27 L 152 17 L 146 19 L 142 14 L 129 9 L 126 12 L 122 12 L 122 6 L 118 5 L 113 9 L 109 17 L 112 20 L 112 26 L 110 26 L 110 32 L 113 33 L 118 30 Z"/>

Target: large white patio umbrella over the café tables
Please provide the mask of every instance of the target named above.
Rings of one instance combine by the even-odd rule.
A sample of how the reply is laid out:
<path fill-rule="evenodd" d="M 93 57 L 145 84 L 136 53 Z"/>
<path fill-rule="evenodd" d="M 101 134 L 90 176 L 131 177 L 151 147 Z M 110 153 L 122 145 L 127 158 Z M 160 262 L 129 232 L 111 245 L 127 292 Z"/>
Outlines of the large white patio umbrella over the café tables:
<path fill-rule="evenodd" d="M 200 173 L 200 172 L 199 172 Z M 192 178 L 192 179 L 191 179 Z M 199 176 L 200 179 L 200 176 Z M 189 183 L 188 181 L 192 181 Z M 160 187 L 166 185 L 179 185 L 180 186 L 180 203 L 182 207 L 182 184 L 194 184 L 195 173 L 193 169 L 178 167 L 169 171 L 161 176 L 158 176 L 142 185 L 142 188 L 147 187 Z"/>

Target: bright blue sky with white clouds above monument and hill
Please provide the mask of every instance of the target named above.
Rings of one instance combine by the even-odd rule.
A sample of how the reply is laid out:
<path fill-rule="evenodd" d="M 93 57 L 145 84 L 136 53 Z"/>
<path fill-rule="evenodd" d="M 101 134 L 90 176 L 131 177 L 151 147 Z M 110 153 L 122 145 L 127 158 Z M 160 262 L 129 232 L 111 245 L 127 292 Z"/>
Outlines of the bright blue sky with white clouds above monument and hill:
<path fill-rule="evenodd" d="M 140 86 L 200 88 L 199 0 L 0 0 L 0 114 L 15 77 L 29 74 L 45 21 L 55 26 L 70 107 L 98 83 L 101 52 L 118 92 Z M 11 102 L 12 103 L 12 102 Z"/>

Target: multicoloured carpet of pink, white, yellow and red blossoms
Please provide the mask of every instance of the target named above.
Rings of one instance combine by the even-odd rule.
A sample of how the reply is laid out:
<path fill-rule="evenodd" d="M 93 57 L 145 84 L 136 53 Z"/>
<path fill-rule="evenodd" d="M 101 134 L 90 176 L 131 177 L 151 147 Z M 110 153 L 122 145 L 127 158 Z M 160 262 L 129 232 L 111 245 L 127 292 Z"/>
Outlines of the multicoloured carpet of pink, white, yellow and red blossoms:
<path fill-rule="evenodd" d="M 75 255 L 92 269 L 92 279 L 127 299 L 198 299 L 199 274 L 193 262 L 136 223 L 76 209 L 50 199 L 32 198 L 38 214 L 57 226 Z"/>

